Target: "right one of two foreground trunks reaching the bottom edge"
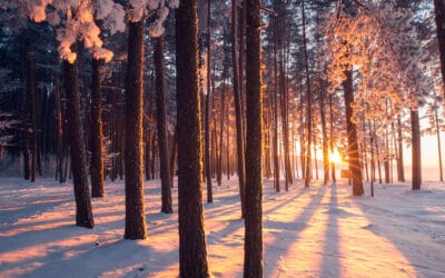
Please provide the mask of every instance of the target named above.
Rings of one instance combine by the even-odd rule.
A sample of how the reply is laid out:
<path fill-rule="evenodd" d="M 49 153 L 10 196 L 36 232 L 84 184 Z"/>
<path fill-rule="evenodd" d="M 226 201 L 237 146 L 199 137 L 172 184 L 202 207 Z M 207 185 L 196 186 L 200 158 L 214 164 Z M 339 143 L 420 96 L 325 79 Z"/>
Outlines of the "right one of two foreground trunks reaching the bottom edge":
<path fill-rule="evenodd" d="M 261 1 L 246 0 L 246 218 L 244 277 L 263 277 Z"/>

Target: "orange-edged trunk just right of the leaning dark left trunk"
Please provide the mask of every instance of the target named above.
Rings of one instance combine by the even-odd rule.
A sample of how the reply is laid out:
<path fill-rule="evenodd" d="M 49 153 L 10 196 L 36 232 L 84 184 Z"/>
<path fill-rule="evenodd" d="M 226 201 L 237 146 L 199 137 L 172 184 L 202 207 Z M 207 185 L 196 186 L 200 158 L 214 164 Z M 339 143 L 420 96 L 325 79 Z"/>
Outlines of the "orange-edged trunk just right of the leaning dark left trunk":
<path fill-rule="evenodd" d="M 91 83 L 91 197 L 103 197 L 102 93 L 100 60 L 92 58 Z"/>

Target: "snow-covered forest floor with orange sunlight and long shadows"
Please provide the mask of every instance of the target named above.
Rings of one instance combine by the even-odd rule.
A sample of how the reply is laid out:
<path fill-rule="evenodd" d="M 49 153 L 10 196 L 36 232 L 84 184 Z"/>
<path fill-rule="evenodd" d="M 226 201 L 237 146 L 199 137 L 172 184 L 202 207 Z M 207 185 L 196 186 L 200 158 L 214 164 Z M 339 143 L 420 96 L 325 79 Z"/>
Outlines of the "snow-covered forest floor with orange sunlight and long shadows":
<path fill-rule="evenodd" d="M 106 189 L 93 199 L 89 230 L 73 226 L 70 183 L 0 178 L 0 277 L 177 277 L 177 215 L 159 212 L 159 181 L 146 182 L 147 240 L 122 239 L 123 183 Z M 215 277 L 243 274 L 237 191 L 236 180 L 225 180 L 205 205 Z M 266 181 L 265 277 L 445 277 L 445 183 L 368 192 L 352 197 L 345 180 L 308 189 L 297 180 L 277 193 Z"/>

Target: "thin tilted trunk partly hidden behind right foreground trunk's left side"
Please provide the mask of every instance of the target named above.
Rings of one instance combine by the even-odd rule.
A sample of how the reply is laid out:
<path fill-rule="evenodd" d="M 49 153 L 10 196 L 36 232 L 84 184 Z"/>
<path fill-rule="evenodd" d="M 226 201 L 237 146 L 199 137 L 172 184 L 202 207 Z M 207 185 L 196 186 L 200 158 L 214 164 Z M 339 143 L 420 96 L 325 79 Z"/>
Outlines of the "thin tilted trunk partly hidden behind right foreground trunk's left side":
<path fill-rule="evenodd" d="M 234 97 L 235 97 L 235 118 L 237 129 L 237 160 L 238 160 L 238 178 L 239 178 L 239 197 L 241 199 L 241 217 L 245 217 L 245 160 L 244 160 L 244 128 L 243 128 L 243 110 L 241 110 L 241 79 L 243 69 L 238 68 L 237 58 L 237 0 L 231 0 L 231 64 L 234 69 Z M 241 53 L 240 53 L 241 56 Z"/>

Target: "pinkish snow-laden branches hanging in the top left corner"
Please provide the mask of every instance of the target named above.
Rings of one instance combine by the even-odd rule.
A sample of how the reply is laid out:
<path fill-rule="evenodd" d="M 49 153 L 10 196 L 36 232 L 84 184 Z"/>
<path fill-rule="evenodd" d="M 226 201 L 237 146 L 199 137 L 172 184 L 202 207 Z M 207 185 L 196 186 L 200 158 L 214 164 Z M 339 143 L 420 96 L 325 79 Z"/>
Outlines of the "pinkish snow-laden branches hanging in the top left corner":
<path fill-rule="evenodd" d="M 128 3 L 130 21 L 139 21 L 148 13 L 157 14 L 149 31 L 150 36 L 159 37 L 165 31 L 164 21 L 169 8 L 178 8 L 179 0 L 170 0 L 167 4 L 165 0 L 129 0 Z M 17 0 L 8 1 L 0 8 L 18 9 L 21 14 L 36 22 L 46 20 L 55 26 L 60 57 L 69 62 L 77 59 L 77 53 L 71 47 L 78 40 L 83 41 L 95 58 L 109 62 L 113 53 L 103 47 L 100 28 L 109 30 L 111 34 L 123 32 L 126 29 L 126 11 L 113 0 Z"/>

